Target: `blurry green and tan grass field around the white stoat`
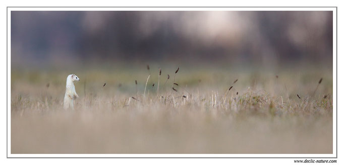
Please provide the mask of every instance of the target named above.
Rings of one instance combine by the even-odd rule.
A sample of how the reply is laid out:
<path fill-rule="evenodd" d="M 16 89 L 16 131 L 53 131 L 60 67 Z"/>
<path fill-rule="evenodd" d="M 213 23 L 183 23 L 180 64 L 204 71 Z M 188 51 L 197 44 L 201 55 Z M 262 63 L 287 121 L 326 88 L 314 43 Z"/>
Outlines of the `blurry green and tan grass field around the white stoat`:
<path fill-rule="evenodd" d="M 11 152 L 332 153 L 331 68 L 178 66 L 12 68 Z"/>

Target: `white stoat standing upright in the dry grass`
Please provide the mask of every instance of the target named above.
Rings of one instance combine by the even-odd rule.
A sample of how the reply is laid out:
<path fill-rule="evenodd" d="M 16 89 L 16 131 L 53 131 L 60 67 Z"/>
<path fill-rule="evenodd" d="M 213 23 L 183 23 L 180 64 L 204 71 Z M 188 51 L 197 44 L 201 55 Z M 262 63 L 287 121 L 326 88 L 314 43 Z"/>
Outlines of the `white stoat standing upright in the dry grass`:
<path fill-rule="evenodd" d="M 64 99 L 64 108 L 67 109 L 68 107 L 71 107 L 74 109 L 74 98 L 79 97 L 78 94 L 75 92 L 75 86 L 74 86 L 74 81 L 80 81 L 78 76 L 75 74 L 70 74 L 67 77 L 67 82 L 66 82 L 66 94 L 65 94 L 65 99 Z"/>

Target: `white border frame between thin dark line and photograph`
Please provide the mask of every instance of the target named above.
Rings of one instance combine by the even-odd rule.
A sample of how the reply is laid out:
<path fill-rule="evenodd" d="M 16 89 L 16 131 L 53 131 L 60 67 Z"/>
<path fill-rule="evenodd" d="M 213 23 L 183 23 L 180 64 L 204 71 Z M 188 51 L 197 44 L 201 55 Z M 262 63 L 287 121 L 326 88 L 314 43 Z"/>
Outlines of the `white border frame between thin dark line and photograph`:
<path fill-rule="evenodd" d="M 12 11 L 332 11 L 333 12 L 333 152 L 332 154 L 12 154 L 11 153 L 11 12 Z M 336 7 L 8 7 L 7 8 L 7 157 L 209 157 L 337 158 L 337 8 Z"/>

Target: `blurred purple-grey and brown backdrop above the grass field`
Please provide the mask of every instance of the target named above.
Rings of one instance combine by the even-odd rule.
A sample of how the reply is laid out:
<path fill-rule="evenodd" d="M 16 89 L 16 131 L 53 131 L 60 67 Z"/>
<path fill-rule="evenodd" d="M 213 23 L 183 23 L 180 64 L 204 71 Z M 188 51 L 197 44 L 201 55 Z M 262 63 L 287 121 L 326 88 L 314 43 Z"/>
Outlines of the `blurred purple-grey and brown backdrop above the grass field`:
<path fill-rule="evenodd" d="M 94 61 L 332 68 L 332 44 L 331 11 L 11 13 L 12 68 Z"/>

